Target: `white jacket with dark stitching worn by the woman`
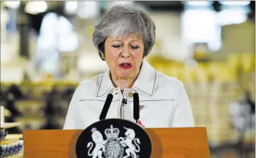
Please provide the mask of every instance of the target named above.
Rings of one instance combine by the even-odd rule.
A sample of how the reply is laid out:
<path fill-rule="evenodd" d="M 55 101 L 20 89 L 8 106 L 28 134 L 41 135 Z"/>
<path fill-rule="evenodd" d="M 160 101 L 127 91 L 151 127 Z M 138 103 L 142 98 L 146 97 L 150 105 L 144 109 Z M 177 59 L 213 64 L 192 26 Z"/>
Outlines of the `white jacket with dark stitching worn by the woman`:
<path fill-rule="evenodd" d="M 109 70 L 91 80 L 80 82 L 70 102 L 64 129 L 86 129 L 99 121 L 109 93 L 113 94 L 113 101 L 106 119 L 120 118 L 121 102 L 126 98 L 123 119 L 135 122 L 131 97 L 131 93 L 135 92 L 140 98 L 140 122 L 146 128 L 194 127 L 191 105 L 183 83 L 157 72 L 143 60 L 135 84 L 132 88 L 126 88 L 123 95 L 120 88 L 114 88 Z"/>

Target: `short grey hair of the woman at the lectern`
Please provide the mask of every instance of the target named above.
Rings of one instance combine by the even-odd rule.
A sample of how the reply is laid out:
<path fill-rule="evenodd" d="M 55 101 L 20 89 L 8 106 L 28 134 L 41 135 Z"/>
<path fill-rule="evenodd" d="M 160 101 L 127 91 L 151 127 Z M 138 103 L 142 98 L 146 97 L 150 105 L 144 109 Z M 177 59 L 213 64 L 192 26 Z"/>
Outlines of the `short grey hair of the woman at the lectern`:
<path fill-rule="evenodd" d="M 147 56 L 155 44 L 155 23 L 143 9 L 132 5 L 113 6 L 94 28 L 92 40 L 94 46 L 104 53 L 106 38 L 136 34 L 144 43 L 143 57 Z M 101 56 L 101 59 L 104 60 Z"/>

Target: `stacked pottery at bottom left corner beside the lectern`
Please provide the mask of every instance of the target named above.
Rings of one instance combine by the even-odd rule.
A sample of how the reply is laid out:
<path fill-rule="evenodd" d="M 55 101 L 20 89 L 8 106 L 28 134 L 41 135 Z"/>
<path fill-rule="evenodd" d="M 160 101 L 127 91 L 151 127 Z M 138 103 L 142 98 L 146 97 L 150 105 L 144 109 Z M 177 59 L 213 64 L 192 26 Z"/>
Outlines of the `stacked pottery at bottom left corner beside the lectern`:
<path fill-rule="evenodd" d="M 8 134 L 8 129 L 21 125 L 18 122 L 7 123 L 4 122 L 4 107 L 1 106 L 1 147 L 0 147 L 0 158 L 18 158 L 23 157 L 23 138 L 22 134 Z"/>

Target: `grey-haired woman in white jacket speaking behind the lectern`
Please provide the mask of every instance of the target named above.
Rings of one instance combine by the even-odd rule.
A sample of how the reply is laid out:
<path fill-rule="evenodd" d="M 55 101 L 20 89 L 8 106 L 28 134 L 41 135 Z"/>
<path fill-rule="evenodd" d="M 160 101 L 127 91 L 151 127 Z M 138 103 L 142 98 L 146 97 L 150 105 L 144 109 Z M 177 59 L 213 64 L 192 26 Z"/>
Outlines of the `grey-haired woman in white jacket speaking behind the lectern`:
<path fill-rule="evenodd" d="M 93 42 L 109 70 L 84 80 L 74 92 L 64 129 L 86 129 L 99 121 L 113 94 L 106 119 L 133 119 L 133 93 L 140 97 L 140 123 L 146 128 L 194 127 L 182 82 L 157 72 L 145 56 L 155 43 L 155 24 L 142 9 L 114 6 L 94 29 Z M 127 104 L 121 106 L 122 99 Z"/>

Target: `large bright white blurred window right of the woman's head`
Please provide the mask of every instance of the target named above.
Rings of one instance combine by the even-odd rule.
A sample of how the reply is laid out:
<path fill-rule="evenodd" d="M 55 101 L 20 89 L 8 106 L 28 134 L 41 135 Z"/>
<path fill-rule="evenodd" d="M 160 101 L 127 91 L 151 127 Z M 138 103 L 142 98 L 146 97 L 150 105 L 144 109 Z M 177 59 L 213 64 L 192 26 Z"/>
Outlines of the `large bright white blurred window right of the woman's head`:
<path fill-rule="evenodd" d="M 182 15 L 182 38 L 189 43 L 208 43 L 211 51 L 220 49 L 221 28 L 216 11 L 187 9 Z"/>

